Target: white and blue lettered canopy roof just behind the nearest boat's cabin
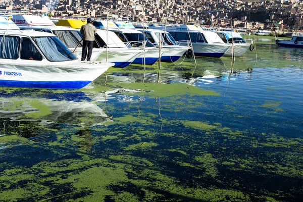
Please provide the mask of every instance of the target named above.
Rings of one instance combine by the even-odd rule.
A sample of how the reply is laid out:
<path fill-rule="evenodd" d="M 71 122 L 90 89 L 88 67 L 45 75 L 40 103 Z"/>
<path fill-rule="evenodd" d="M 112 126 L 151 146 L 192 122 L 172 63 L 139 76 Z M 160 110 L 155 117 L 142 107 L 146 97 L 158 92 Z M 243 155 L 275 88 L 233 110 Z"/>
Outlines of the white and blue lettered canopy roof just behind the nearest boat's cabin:
<path fill-rule="evenodd" d="M 56 26 L 51 19 L 47 16 L 37 15 L 12 15 L 12 21 L 16 25 L 22 26 L 37 26 L 37 25 L 48 25 Z"/>

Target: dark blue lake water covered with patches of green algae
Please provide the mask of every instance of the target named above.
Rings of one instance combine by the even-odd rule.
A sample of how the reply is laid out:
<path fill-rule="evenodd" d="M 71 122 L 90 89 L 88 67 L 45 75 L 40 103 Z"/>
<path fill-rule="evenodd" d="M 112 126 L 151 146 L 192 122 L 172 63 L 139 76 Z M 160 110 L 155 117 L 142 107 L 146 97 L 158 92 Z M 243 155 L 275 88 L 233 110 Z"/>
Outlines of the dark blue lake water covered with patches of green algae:
<path fill-rule="evenodd" d="M 0 201 L 302 201 L 303 50 L 256 49 L 1 88 Z"/>

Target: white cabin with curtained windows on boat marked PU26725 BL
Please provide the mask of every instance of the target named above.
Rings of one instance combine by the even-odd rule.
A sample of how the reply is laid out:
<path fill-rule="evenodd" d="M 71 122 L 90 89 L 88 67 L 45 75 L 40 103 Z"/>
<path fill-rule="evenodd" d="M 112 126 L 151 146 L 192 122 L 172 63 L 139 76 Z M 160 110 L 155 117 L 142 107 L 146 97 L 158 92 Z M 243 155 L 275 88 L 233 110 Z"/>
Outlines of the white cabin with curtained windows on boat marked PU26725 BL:
<path fill-rule="evenodd" d="M 50 33 L 20 30 L 13 21 L 0 17 L 0 58 L 9 60 L 47 60 L 62 62 L 77 57 Z"/>

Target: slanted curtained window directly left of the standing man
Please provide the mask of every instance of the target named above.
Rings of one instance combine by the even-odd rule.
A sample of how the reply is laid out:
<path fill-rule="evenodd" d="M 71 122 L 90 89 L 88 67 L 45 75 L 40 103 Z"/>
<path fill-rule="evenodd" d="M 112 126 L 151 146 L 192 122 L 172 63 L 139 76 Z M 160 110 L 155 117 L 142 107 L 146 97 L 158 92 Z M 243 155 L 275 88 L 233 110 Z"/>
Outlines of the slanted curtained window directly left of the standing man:
<path fill-rule="evenodd" d="M 76 47 L 82 39 L 80 31 L 54 30 L 54 34 L 67 46 Z M 78 47 L 82 47 L 82 42 Z"/>

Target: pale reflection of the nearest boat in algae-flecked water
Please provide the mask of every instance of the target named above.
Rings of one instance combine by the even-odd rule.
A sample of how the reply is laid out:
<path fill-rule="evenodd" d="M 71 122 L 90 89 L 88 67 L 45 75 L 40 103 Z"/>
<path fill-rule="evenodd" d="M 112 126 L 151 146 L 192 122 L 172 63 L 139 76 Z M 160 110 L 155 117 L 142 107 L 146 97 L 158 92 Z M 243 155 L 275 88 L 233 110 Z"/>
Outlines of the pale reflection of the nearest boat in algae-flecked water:
<path fill-rule="evenodd" d="M 0 134 L 2 135 L 17 134 L 39 139 L 58 127 L 75 125 L 87 128 L 111 121 L 111 117 L 112 115 L 106 114 L 103 109 L 88 101 L 26 97 L 0 99 Z"/>

